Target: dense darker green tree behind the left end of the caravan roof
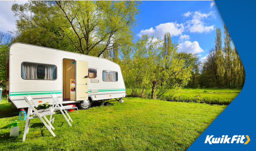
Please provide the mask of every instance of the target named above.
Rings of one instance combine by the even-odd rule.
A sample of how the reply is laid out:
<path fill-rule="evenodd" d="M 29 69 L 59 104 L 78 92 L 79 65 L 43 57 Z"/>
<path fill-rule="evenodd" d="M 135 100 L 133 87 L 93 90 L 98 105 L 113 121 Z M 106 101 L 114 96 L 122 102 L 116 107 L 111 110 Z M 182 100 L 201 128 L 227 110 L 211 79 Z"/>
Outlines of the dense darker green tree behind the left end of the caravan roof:
<path fill-rule="evenodd" d="M 25 4 L 12 5 L 16 20 L 14 42 L 23 42 L 55 49 L 76 52 L 70 40 L 61 31 L 60 21 L 56 18 L 55 5 L 48 1 L 29 1 Z"/>

